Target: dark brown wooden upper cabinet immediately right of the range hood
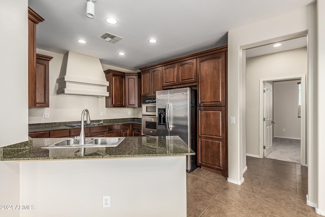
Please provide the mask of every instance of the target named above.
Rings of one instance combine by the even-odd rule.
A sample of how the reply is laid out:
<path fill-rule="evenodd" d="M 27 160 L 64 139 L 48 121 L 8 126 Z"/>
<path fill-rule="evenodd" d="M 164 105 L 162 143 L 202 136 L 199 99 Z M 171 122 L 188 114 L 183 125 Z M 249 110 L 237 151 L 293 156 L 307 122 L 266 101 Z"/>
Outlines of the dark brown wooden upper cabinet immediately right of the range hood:
<path fill-rule="evenodd" d="M 115 70 L 104 71 L 106 80 L 109 82 L 106 97 L 106 107 L 125 107 L 125 74 Z"/>

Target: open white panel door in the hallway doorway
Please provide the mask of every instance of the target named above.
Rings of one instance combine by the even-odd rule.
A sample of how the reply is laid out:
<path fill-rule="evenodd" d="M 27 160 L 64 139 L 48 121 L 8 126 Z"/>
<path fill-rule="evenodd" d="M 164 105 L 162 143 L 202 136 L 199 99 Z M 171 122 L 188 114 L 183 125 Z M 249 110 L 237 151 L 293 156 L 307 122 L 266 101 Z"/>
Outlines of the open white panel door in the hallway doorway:
<path fill-rule="evenodd" d="M 264 157 L 272 152 L 273 139 L 273 90 L 272 83 L 264 83 Z"/>

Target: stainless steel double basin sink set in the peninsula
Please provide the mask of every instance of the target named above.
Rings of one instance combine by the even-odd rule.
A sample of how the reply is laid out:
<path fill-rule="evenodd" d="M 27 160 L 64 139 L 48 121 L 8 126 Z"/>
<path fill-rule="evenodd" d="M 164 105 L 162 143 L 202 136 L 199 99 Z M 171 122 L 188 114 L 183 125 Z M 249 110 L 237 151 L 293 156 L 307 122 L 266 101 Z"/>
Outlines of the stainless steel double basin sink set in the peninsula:
<path fill-rule="evenodd" d="M 42 148 L 85 148 L 85 147 L 116 147 L 125 137 L 99 137 L 99 138 L 86 138 L 85 144 L 80 145 L 79 140 L 76 138 L 66 139 L 60 142 L 50 144 Z"/>

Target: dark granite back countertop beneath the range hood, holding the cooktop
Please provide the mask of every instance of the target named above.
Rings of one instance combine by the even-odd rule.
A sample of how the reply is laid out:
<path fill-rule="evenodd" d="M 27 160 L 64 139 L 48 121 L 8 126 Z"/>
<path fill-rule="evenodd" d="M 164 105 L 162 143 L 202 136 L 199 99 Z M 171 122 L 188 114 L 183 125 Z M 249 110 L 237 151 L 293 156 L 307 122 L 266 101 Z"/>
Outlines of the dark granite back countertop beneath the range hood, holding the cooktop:
<path fill-rule="evenodd" d="M 80 123 L 81 121 L 69 121 L 69 122 L 53 122 L 53 123 L 31 123 L 28 125 L 28 133 L 36 133 L 42 131 L 52 130 L 71 130 L 80 127 L 67 127 L 67 123 Z M 141 124 L 141 118 L 119 118 L 119 119 L 105 119 L 105 120 L 91 120 L 90 122 L 103 122 L 103 125 L 87 126 L 98 127 L 108 125 L 119 125 L 123 123 L 138 123 Z"/>

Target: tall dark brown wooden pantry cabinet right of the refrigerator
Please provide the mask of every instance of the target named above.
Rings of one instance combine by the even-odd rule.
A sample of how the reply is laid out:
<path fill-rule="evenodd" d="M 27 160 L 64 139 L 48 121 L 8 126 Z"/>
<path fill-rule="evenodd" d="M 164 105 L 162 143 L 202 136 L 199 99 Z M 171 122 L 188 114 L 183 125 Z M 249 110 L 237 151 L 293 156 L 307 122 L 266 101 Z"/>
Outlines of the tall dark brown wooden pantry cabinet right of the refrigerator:
<path fill-rule="evenodd" d="M 198 165 L 228 176 L 227 47 L 197 58 Z"/>

